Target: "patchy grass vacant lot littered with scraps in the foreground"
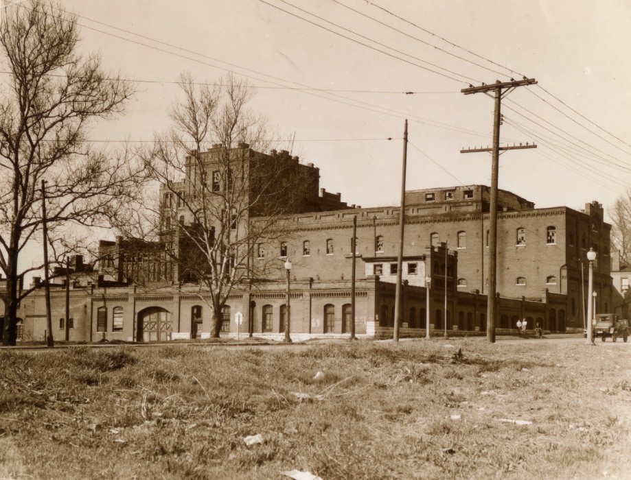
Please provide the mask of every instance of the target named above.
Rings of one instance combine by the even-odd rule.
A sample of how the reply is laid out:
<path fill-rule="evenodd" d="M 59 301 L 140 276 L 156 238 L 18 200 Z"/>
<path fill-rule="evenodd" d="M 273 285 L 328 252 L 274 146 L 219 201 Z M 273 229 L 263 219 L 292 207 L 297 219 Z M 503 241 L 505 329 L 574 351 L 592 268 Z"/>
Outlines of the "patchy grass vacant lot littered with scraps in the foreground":
<path fill-rule="evenodd" d="M 627 479 L 630 368 L 582 338 L 3 351 L 0 478 Z"/>

